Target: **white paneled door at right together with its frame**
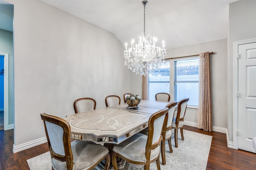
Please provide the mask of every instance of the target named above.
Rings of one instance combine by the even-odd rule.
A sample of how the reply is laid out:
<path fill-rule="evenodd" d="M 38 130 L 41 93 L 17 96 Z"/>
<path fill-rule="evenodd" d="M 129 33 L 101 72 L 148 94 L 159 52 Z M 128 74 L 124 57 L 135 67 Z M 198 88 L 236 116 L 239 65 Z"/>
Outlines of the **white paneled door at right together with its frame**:
<path fill-rule="evenodd" d="M 256 40 L 235 42 L 234 49 L 234 148 L 255 153 Z"/>

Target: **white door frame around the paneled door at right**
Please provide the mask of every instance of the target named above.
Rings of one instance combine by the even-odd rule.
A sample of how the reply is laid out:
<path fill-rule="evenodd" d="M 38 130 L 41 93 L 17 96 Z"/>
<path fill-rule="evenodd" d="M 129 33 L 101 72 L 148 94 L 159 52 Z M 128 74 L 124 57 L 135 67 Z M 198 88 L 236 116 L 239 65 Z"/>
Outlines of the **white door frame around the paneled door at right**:
<path fill-rule="evenodd" d="M 238 149 L 238 47 L 242 44 L 256 43 L 256 39 L 233 42 L 233 148 Z"/>

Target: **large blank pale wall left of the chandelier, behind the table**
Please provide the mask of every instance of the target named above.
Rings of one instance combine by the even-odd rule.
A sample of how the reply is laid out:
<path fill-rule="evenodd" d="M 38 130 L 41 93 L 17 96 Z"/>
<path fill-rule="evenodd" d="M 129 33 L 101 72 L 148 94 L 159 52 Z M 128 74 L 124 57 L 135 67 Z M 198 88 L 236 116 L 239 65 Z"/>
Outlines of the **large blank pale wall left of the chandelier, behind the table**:
<path fill-rule="evenodd" d="M 107 95 L 141 95 L 142 76 L 124 65 L 114 34 L 41 1 L 8 2 L 14 4 L 15 146 L 46 136 L 40 113 L 64 118 L 80 97 L 102 108 Z"/>

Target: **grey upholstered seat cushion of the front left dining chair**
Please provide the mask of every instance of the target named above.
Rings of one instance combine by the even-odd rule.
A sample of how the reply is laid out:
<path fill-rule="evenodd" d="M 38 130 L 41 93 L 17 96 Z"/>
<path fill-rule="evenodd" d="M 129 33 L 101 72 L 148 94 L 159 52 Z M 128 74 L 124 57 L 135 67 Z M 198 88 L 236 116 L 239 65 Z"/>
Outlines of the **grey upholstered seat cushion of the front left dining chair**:
<path fill-rule="evenodd" d="M 71 142 L 73 153 L 74 170 L 88 169 L 108 153 L 108 149 L 93 142 L 78 141 Z M 66 170 L 66 162 L 52 159 L 54 170 Z"/>

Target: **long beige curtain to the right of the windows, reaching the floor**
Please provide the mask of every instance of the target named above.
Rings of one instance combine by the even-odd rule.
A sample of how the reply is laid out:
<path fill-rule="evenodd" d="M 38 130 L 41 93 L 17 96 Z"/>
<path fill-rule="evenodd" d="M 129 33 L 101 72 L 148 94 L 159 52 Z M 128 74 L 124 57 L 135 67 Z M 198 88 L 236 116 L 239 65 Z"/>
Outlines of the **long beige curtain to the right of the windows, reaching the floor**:
<path fill-rule="evenodd" d="M 209 52 L 199 55 L 198 128 L 212 131 L 212 90 Z"/>

